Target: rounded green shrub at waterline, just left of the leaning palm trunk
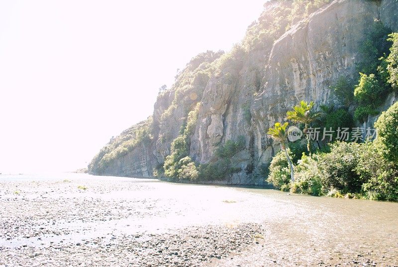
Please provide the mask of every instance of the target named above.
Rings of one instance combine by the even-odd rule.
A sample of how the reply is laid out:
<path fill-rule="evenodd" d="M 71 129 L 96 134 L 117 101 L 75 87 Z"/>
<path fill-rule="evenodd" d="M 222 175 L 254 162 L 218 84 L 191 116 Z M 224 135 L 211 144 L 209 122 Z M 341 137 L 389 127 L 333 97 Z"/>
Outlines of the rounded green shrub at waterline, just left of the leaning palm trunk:
<path fill-rule="evenodd" d="M 292 152 L 288 148 L 288 153 L 292 157 Z M 275 188 L 282 191 L 289 191 L 290 189 L 290 168 L 286 153 L 279 151 L 271 161 L 270 174 L 268 175 L 267 182 L 274 185 Z"/>

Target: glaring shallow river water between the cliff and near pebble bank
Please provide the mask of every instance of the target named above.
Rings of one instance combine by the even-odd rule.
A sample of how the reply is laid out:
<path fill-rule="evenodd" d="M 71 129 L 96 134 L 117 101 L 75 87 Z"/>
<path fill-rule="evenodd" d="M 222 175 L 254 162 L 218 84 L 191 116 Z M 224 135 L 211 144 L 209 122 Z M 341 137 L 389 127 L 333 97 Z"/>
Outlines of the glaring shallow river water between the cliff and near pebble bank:
<path fill-rule="evenodd" d="M 63 183 L 64 179 L 71 183 Z M 302 255 L 291 259 L 296 264 L 336 254 L 383 254 L 391 261 L 398 257 L 398 203 L 86 174 L 0 175 L 0 183 L 1 201 L 12 198 L 29 203 L 30 210 L 49 210 L 49 214 L 65 209 L 65 213 L 69 212 L 64 218 L 51 217 L 54 221 L 43 217 L 35 226 L 41 226 L 49 233 L 68 229 L 67 234 L 43 234 L 40 240 L 23 235 L 8 240 L 0 238 L 0 247 L 43 246 L 61 240 L 76 243 L 106 237 L 109 233 L 167 233 L 189 226 L 234 227 L 241 223 L 259 223 L 265 225 L 265 240 L 272 246 L 252 252 L 257 255 L 265 253 L 278 258 L 283 255 L 280 251 L 291 250 L 294 255 Z M 87 185 L 88 190 L 77 190 L 77 184 Z M 21 191 L 19 195 L 10 194 L 17 189 Z M 36 207 L 34 203 L 39 200 L 40 206 Z M 106 206 L 98 206 L 97 202 L 106 203 Z M 43 203 L 52 204 L 46 206 Z M 70 209 L 64 205 L 70 205 Z M 70 211 L 79 205 L 87 205 L 88 215 L 82 221 L 70 219 L 79 217 Z M 24 206 L 20 208 L 24 212 Z M 111 215 L 102 214 L 104 219 L 99 220 L 98 214 L 104 211 Z M 35 212 L 38 211 L 32 213 L 33 217 Z M 6 207 L 1 213 L 8 220 L 18 216 L 8 216 Z M 244 255 L 240 257 L 244 258 Z M 286 256 L 281 259 L 286 260 Z"/>

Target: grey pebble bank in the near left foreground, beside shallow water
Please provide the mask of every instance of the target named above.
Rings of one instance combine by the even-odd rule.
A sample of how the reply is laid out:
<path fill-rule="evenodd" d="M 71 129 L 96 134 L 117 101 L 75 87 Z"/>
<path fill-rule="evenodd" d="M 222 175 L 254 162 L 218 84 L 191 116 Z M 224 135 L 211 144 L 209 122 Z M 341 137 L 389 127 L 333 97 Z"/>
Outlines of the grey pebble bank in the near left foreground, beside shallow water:
<path fill-rule="evenodd" d="M 253 244 L 258 225 L 185 228 L 168 234 L 114 235 L 38 248 L 1 248 L 5 266 L 200 266 Z"/>

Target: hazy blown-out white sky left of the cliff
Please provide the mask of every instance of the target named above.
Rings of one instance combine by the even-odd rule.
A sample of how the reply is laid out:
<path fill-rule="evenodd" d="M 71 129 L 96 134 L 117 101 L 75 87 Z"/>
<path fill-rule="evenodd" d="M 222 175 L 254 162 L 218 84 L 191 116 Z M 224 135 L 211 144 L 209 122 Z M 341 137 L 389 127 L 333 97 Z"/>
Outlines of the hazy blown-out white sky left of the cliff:
<path fill-rule="evenodd" d="M 86 167 L 265 0 L 0 0 L 0 172 Z"/>

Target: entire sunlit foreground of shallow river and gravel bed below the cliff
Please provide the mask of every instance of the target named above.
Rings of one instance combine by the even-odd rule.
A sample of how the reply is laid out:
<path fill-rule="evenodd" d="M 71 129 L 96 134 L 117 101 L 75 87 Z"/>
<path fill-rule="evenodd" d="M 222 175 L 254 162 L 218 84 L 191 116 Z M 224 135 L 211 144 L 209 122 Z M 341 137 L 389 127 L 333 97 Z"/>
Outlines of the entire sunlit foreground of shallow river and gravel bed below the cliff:
<path fill-rule="evenodd" d="M 4 264 L 398 265 L 398 203 L 75 174 L 0 188 Z"/>

